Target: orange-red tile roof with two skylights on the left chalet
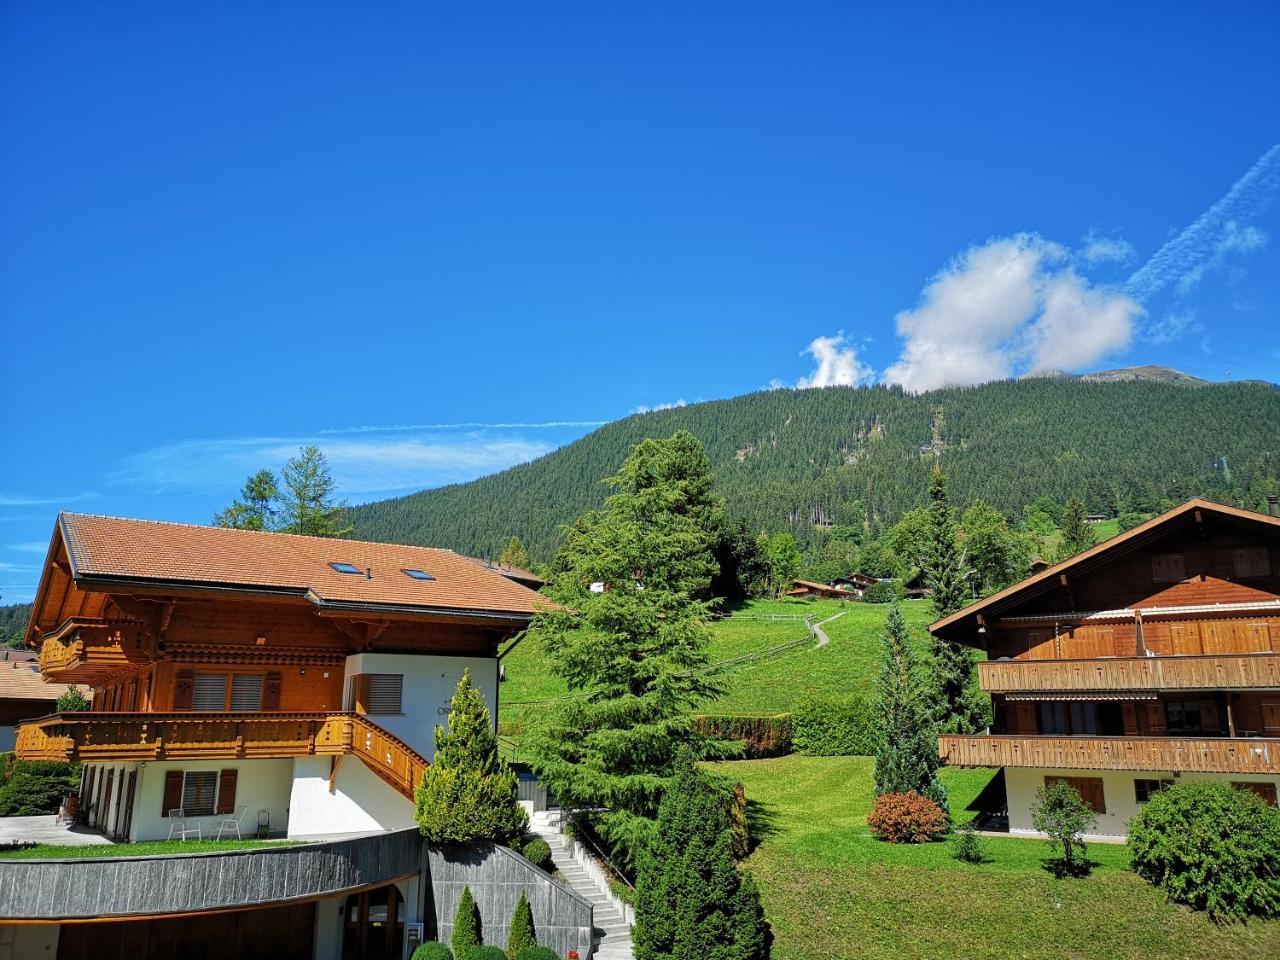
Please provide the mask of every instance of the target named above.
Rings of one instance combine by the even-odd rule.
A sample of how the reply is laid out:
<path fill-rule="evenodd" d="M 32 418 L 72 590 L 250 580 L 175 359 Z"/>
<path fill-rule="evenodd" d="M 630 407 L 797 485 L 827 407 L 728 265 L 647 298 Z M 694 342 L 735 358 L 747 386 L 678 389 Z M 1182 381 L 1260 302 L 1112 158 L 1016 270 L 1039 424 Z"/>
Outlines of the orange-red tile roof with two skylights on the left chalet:
<path fill-rule="evenodd" d="M 320 605 L 420 607 L 527 617 L 548 604 L 539 594 L 470 557 L 294 534 L 63 513 L 59 529 L 78 580 L 214 585 L 306 594 Z M 360 573 L 339 573 L 351 563 Z M 402 571 L 422 570 L 433 580 Z M 367 575 L 366 575 L 367 571 Z"/>

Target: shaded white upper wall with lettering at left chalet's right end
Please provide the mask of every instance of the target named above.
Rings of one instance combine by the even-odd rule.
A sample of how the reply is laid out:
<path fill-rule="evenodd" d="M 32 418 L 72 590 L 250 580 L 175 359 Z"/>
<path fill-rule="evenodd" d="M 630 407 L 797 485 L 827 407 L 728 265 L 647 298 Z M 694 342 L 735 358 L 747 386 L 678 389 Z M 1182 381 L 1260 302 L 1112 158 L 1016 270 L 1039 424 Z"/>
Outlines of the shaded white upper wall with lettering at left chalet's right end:
<path fill-rule="evenodd" d="M 370 716 L 370 719 L 430 760 L 435 755 L 435 727 L 448 718 L 449 700 L 465 669 L 471 671 L 471 682 L 489 705 L 489 714 L 497 728 L 497 659 L 361 653 L 347 658 L 346 676 L 349 678 L 356 673 L 403 675 L 404 691 L 401 699 L 403 713 Z"/>

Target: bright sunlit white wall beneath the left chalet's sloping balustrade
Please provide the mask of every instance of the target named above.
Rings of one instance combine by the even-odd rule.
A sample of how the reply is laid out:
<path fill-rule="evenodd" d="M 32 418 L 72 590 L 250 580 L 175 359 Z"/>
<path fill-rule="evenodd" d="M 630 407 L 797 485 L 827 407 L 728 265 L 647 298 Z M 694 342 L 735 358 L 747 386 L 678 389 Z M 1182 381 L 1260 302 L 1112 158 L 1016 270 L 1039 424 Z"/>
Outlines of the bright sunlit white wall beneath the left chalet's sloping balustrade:
<path fill-rule="evenodd" d="M 365 767 L 346 756 L 329 792 L 330 759 L 293 760 L 289 837 L 323 837 L 412 827 L 413 804 Z"/>

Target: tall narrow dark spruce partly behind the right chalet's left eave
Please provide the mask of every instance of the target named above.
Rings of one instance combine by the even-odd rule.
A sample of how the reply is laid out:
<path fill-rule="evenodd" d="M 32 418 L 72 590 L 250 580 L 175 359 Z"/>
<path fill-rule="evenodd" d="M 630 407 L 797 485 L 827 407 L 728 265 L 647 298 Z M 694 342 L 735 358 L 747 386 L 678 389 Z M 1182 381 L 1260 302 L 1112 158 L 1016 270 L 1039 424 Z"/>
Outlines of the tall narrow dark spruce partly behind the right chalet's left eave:
<path fill-rule="evenodd" d="M 929 481 L 928 539 L 922 557 L 924 582 L 932 591 L 933 612 L 948 617 L 969 598 L 969 566 L 960 547 L 956 512 L 947 497 L 942 465 L 934 462 Z M 973 654 L 966 646 L 936 637 L 933 675 L 937 686 L 938 719 L 947 733 L 972 733 L 986 718 L 982 699 L 974 687 Z"/>

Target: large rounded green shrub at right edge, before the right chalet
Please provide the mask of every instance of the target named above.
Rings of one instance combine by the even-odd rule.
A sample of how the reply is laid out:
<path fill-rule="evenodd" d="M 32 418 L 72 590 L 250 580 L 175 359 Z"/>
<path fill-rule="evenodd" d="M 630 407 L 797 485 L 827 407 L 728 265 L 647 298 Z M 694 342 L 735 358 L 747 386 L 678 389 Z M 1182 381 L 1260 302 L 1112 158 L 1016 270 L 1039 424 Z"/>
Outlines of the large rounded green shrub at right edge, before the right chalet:
<path fill-rule="evenodd" d="M 1215 919 L 1280 915 L 1280 810 L 1222 781 L 1161 790 L 1129 822 L 1139 876 Z"/>

